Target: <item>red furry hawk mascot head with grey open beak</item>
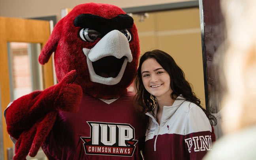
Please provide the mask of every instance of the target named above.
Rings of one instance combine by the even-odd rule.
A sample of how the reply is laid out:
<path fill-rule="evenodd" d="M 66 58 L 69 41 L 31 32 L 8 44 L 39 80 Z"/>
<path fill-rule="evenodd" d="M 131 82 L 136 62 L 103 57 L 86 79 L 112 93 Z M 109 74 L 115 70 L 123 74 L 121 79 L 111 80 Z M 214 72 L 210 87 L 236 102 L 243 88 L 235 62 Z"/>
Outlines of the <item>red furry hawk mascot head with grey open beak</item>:
<path fill-rule="evenodd" d="M 75 84 L 98 98 L 126 93 L 137 70 L 139 39 L 132 17 L 110 4 L 81 4 L 62 18 L 41 51 L 39 62 L 54 54 L 58 81 L 76 70 Z"/>

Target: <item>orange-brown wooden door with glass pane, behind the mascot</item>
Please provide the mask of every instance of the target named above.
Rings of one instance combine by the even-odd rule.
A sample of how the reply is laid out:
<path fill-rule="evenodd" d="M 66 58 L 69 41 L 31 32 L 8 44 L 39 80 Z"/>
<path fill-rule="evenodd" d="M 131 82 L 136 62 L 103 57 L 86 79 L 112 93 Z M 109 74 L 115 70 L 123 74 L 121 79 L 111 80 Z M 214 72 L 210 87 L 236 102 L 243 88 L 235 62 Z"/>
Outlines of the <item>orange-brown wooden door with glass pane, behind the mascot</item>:
<path fill-rule="evenodd" d="M 8 42 L 29 42 L 40 43 L 41 48 L 45 45 L 50 36 L 49 21 L 43 20 L 27 20 L 19 18 L 0 17 L 0 153 L 4 153 L 4 160 L 7 160 L 7 148 L 13 147 L 9 135 L 6 131 L 6 122 L 3 113 L 7 105 L 11 101 L 10 81 L 8 68 Z M 53 85 L 53 64 L 50 59 L 43 66 L 43 88 Z M 0 121 L 1 122 L 1 121 Z M 2 158 L 0 158 L 2 159 Z"/>

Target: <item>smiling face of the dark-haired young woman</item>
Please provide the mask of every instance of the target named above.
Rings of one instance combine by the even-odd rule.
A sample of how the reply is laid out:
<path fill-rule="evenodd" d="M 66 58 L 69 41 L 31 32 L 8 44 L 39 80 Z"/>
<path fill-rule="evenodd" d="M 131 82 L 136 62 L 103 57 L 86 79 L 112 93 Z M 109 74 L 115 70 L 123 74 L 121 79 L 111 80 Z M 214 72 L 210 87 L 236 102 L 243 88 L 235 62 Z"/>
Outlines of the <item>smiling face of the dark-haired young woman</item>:
<path fill-rule="evenodd" d="M 170 97 L 170 75 L 154 58 L 145 60 L 141 65 L 141 77 L 145 89 L 159 99 Z"/>

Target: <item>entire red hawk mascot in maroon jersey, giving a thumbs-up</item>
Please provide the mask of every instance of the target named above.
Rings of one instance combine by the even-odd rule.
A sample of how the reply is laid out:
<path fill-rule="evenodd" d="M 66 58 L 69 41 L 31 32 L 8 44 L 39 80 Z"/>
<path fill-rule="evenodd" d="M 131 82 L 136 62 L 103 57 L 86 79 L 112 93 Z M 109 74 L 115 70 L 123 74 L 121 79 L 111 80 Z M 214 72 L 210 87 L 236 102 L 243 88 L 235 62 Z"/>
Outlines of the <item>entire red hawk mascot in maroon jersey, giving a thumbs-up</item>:
<path fill-rule="evenodd" d="M 62 18 L 39 56 L 55 52 L 58 84 L 13 101 L 7 130 L 14 160 L 135 160 L 145 123 L 127 91 L 137 70 L 139 39 L 132 17 L 109 4 L 81 4 Z"/>

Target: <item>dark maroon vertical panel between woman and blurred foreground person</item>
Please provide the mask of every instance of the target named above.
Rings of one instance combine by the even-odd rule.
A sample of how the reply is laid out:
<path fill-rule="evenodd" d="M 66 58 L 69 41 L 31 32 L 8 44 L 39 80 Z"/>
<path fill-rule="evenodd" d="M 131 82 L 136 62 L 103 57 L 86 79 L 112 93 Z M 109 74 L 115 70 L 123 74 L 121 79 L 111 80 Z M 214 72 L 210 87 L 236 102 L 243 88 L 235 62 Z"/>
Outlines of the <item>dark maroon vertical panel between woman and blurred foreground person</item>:
<path fill-rule="evenodd" d="M 221 90 L 219 69 L 226 44 L 225 23 L 220 9 L 220 0 L 199 0 L 203 71 L 206 109 L 211 113 L 220 110 Z"/>

